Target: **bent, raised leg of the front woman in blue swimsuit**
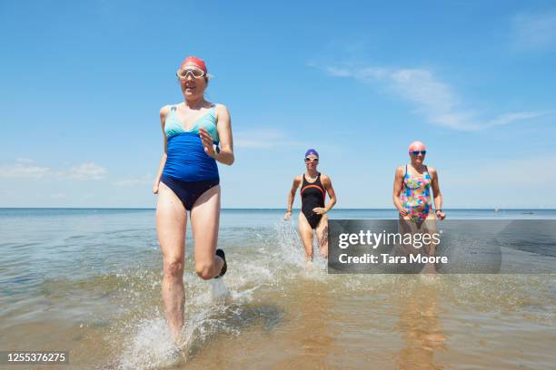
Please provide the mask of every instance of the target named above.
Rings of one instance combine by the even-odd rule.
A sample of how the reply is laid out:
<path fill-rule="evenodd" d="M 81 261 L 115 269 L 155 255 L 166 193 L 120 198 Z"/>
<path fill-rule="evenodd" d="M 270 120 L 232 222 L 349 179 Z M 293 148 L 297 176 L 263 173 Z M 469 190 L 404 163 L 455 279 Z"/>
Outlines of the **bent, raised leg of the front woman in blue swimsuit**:
<path fill-rule="evenodd" d="M 195 240 L 195 271 L 205 280 L 216 277 L 223 259 L 216 256 L 220 224 L 220 185 L 206 190 L 191 210 L 191 227 Z"/>

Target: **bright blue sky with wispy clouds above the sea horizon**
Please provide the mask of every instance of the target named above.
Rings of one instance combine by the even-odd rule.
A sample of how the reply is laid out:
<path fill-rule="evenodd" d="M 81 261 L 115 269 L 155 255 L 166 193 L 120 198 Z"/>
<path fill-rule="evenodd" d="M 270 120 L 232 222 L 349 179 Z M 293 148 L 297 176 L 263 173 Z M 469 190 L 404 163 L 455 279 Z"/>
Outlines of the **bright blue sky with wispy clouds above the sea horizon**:
<path fill-rule="evenodd" d="M 556 208 L 553 2 L 4 1 L 0 47 L 0 207 L 154 207 L 194 54 L 232 114 L 223 207 L 285 207 L 314 147 L 338 207 L 390 208 L 421 140 L 445 208 Z"/>

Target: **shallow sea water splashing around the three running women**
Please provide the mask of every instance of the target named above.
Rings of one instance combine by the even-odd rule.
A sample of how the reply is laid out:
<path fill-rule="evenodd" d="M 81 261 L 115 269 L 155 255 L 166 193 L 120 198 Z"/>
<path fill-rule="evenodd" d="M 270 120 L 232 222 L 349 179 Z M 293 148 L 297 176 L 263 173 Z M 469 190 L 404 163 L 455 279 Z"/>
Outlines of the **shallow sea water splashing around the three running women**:
<path fill-rule="evenodd" d="M 451 215 L 556 218 L 553 210 L 527 212 Z M 323 259 L 305 266 L 294 225 L 282 214 L 223 210 L 219 243 L 229 268 L 222 280 L 194 275 L 187 240 L 187 341 L 176 351 L 164 321 L 154 210 L 0 209 L 0 349 L 70 351 L 70 365 L 35 367 L 48 369 L 556 363 L 554 275 L 328 275 Z M 354 209 L 331 217 L 395 213 Z"/>

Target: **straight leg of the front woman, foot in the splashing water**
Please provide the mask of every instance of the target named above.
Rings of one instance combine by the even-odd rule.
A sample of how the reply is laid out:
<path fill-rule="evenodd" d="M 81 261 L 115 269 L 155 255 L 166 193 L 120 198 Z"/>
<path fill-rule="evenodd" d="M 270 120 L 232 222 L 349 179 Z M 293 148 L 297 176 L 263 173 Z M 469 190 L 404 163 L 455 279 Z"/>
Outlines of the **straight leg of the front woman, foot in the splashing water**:
<path fill-rule="evenodd" d="M 187 214 L 182 201 L 160 183 L 156 204 L 156 230 L 163 254 L 162 296 L 164 315 L 174 336 L 180 341 L 184 326 L 184 249 Z"/>

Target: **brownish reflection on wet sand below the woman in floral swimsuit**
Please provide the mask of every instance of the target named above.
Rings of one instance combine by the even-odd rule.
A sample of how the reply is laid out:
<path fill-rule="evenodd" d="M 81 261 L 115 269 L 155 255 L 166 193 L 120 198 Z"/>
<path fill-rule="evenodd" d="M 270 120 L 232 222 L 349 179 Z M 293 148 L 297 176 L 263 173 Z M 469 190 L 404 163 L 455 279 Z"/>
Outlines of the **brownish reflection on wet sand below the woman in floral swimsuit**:
<path fill-rule="evenodd" d="M 437 307 L 439 290 L 437 282 L 423 280 L 411 287 L 407 295 L 397 298 L 400 316 L 397 328 L 404 346 L 395 355 L 396 368 L 444 368 L 435 358 L 438 351 L 448 349 Z"/>

